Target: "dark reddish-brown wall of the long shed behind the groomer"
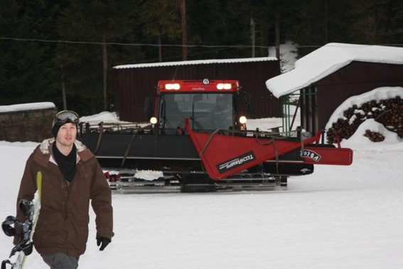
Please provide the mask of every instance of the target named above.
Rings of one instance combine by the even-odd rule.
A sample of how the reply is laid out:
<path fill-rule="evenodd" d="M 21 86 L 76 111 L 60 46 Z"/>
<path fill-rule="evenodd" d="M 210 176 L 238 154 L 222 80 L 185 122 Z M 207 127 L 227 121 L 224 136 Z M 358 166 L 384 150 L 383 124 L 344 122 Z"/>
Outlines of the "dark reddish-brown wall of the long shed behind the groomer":
<path fill-rule="evenodd" d="M 156 93 L 158 80 L 240 80 L 242 91 L 254 96 L 255 112 L 250 118 L 281 117 L 281 103 L 272 97 L 265 82 L 280 75 L 278 60 L 244 63 L 117 68 L 114 74 L 114 108 L 120 120 L 144 122 L 144 100 Z"/>

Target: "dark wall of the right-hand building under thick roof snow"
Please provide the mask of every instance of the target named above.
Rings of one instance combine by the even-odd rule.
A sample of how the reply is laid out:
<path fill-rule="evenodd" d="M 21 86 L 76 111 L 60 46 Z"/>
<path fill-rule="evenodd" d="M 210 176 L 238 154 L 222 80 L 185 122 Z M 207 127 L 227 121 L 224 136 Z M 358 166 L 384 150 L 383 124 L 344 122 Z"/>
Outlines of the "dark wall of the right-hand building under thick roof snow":
<path fill-rule="evenodd" d="M 318 80 L 311 85 L 316 91 L 316 104 L 309 109 L 301 107 L 301 122 L 317 122 L 309 125 L 309 132 L 323 130 L 333 112 L 349 97 L 367 93 L 380 87 L 403 87 L 403 65 L 387 63 L 364 63 L 353 61 L 344 68 Z M 303 91 L 303 90 L 302 90 Z"/>

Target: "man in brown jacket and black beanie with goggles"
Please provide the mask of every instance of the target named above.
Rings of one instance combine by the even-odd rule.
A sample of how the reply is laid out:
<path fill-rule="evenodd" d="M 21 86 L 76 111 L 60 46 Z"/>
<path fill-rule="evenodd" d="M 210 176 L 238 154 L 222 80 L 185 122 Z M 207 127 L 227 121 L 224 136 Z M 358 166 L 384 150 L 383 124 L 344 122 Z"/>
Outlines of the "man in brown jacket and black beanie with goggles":
<path fill-rule="evenodd" d="M 36 174 L 42 172 L 41 213 L 33 246 L 52 269 L 78 267 L 87 244 L 90 201 L 96 214 L 100 250 L 114 236 L 111 190 L 95 155 L 75 139 L 78 122 L 73 111 L 55 114 L 55 138 L 45 139 L 28 158 L 18 192 L 17 218 L 25 221 L 18 202 L 33 199 Z M 18 226 L 16 230 L 19 233 Z M 14 243 L 18 243 L 17 237 Z"/>

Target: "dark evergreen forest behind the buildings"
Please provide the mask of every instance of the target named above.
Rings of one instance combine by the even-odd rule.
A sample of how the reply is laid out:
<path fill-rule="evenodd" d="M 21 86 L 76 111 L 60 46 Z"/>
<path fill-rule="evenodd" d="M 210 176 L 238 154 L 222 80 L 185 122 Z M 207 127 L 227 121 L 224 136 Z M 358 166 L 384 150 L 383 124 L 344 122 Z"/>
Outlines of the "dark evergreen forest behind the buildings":
<path fill-rule="evenodd" d="M 403 46 L 403 1 L 3 0 L 0 105 L 113 111 L 113 66 L 267 57 L 271 46 L 281 58 L 285 42 L 299 58 L 331 42 Z"/>

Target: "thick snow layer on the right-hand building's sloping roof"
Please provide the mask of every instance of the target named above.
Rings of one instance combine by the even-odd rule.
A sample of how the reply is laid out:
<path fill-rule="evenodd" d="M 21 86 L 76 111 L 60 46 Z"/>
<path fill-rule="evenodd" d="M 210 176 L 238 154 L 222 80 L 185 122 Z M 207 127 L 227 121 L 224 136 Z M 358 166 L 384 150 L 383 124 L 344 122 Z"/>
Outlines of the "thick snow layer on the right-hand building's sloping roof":
<path fill-rule="evenodd" d="M 276 97 L 287 95 L 325 78 L 353 60 L 403 64 L 403 48 L 328 43 L 297 60 L 294 70 L 267 80 L 266 86 Z"/>

